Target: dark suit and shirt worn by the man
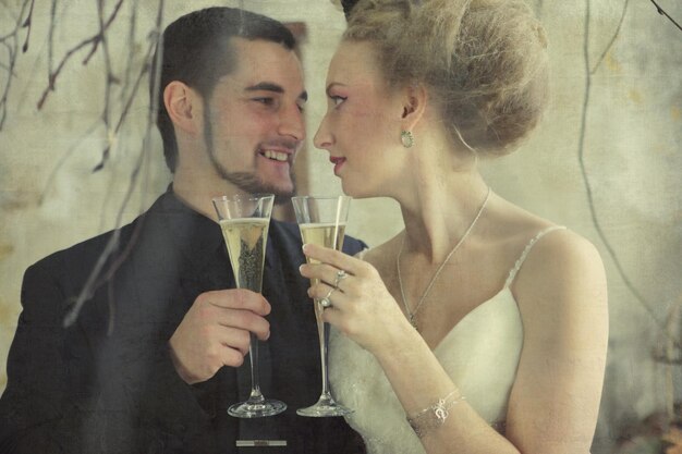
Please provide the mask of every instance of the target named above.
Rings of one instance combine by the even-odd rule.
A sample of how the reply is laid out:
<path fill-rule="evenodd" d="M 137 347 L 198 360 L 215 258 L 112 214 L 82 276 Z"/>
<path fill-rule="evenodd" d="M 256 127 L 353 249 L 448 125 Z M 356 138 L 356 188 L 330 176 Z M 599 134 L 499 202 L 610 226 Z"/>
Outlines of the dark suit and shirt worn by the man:
<path fill-rule="evenodd" d="M 270 339 L 260 343 L 266 396 L 282 415 L 238 419 L 227 408 L 248 396 L 248 358 L 188 385 L 175 372 L 168 340 L 198 294 L 234 287 L 220 228 L 162 195 L 120 230 L 115 270 L 64 316 L 111 232 L 56 253 L 25 273 L 23 311 L 0 398 L 0 453 L 351 453 L 357 434 L 342 418 L 303 418 L 321 389 L 317 327 L 295 224 L 272 221 L 263 293 L 272 306 Z M 344 249 L 364 245 L 346 237 Z M 110 330 L 110 334 L 107 334 Z M 236 440 L 287 440 L 287 447 L 235 447 Z"/>

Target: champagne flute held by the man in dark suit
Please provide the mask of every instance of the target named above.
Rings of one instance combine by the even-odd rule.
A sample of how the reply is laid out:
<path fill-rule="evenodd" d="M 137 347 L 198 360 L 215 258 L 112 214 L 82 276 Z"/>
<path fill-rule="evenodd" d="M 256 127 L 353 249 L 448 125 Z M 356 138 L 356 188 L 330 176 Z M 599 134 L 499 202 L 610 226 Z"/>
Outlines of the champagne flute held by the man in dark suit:
<path fill-rule="evenodd" d="M 212 199 L 239 289 L 261 292 L 263 268 L 273 201 L 275 196 L 271 194 L 222 196 Z M 284 403 L 266 400 L 260 392 L 258 339 L 254 333 L 251 333 L 248 357 L 251 395 L 246 402 L 230 406 L 228 414 L 238 418 L 259 418 L 284 412 L 287 409 Z"/>

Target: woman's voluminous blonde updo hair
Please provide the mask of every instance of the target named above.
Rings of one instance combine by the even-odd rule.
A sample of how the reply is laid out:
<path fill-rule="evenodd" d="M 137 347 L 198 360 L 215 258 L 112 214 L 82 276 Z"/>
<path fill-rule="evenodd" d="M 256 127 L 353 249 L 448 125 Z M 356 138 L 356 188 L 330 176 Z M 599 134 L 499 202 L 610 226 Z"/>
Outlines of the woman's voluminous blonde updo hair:
<path fill-rule="evenodd" d="M 343 39 L 372 41 L 390 86 L 424 83 L 482 157 L 513 151 L 547 103 L 547 40 L 524 0 L 360 0 Z"/>

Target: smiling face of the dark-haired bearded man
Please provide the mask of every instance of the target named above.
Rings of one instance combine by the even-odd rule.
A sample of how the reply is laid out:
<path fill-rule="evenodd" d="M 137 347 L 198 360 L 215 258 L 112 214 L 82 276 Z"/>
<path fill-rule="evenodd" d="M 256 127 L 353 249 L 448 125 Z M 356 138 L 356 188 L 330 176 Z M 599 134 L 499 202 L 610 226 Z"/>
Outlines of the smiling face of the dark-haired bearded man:
<path fill-rule="evenodd" d="M 231 38 L 236 68 L 206 102 L 204 139 L 220 177 L 246 193 L 294 194 L 293 161 L 305 139 L 301 63 L 266 40 Z"/>

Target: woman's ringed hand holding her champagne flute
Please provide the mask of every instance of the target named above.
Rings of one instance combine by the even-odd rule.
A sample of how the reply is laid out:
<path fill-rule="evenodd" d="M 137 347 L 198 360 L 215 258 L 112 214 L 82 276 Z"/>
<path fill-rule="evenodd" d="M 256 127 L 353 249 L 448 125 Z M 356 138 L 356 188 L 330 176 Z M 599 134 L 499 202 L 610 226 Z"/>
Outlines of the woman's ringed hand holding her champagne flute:
<path fill-rule="evenodd" d="M 319 280 L 308 290 L 310 297 L 331 302 L 322 314 L 326 322 L 377 357 L 398 345 L 406 332 L 415 332 L 372 265 L 313 244 L 305 245 L 303 253 L 320 262 L 303 265 L 301 274 L 312 282 Z M 341 271 L 345 275 L 339 280 Z"/>

